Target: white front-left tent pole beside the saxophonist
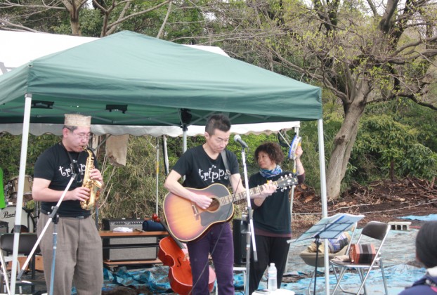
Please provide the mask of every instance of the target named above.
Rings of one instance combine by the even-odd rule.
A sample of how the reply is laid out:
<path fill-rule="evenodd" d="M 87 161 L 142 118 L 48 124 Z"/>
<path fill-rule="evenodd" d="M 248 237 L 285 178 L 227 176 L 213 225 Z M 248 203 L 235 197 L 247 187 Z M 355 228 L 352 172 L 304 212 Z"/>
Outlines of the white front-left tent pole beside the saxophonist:
<path fill-rule="evenodd" d="M 12 268 L 11 268 L 11 294 L 15 294 L 15 282 L 17 277 L 18 263 L 18 243 L 20 242 L 21 232 L 21 209 L 22 209 L 22 193 L 25 188 L 25 173 L 27 161 L 27 142 L 29 140 L 30 128 L 30 106 L 32 103 L 32 95 L 25 96 L 25 113 L 22 122 L 22 138 L 21 138 L 21 155 L 20 155 L 20 173 L 18 174 L 18 195 L 17 207 L 15 208 L 15 225 L 13 234 L 13 252 L 12 252 Z"/>

